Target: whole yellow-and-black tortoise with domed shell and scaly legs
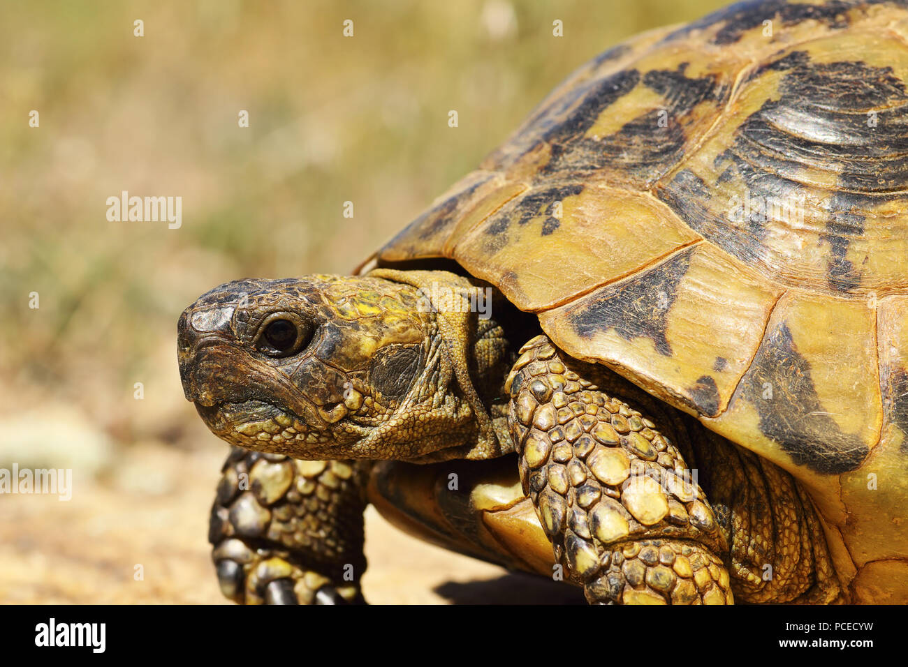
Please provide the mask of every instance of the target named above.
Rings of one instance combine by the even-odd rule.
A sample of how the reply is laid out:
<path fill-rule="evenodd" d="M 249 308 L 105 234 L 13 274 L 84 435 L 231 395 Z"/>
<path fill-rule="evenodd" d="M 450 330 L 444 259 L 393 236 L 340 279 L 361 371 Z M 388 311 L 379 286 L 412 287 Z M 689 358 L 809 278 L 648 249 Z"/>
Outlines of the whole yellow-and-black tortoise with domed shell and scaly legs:
<path fill-rule="evenodd" d="M 363 602 L 362 513 L 589 603 L 908 601 L 908 11 L 580 67 L 351 276 L 179 320 L 222 592 Z"/>

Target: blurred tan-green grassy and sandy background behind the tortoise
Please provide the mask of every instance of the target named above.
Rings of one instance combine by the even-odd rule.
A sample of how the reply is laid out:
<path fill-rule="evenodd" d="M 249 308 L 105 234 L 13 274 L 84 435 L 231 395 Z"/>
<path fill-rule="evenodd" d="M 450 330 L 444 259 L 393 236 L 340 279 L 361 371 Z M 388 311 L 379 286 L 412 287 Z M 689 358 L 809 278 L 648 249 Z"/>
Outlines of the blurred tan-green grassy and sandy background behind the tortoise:
<path fill-rule="evenodd" d="M 350 272 L 578 65 L 721 5 L 0 5 L 0 468 L 73 469 L 68 502 L 0 495 L 0 602 L 221 603 L 205 538 L 226 445 L 183 398 L 183 308 L 227 280 Z M 182 226 L 108 221 L 122 191 L 181 197 Z M 533 594 L 371 512 L 367 554 L 373 603 Z"/>

